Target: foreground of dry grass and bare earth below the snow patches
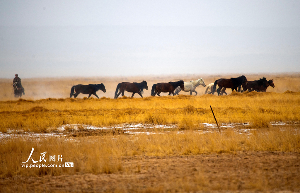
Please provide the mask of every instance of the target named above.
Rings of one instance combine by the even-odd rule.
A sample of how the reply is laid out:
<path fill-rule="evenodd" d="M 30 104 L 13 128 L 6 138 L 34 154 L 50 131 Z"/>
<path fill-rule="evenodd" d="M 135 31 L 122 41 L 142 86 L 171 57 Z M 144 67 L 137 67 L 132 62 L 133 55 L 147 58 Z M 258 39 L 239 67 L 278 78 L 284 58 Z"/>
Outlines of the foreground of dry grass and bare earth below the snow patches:
<path fill-rule="evenodd" d="M 186 131 L 71 139 L 2 141 L 2 191 L 300 191 L 300 133 L 292 128 L 259 129 L 250 135 L 225 130 L 221 134 Z M 46 162 L 39 165 L 73 162 L 74 167 L 22 163 L 32 147 L 35 161 L 47 152 Z M 48 155 L 64 158 L 49 162 Z"/>

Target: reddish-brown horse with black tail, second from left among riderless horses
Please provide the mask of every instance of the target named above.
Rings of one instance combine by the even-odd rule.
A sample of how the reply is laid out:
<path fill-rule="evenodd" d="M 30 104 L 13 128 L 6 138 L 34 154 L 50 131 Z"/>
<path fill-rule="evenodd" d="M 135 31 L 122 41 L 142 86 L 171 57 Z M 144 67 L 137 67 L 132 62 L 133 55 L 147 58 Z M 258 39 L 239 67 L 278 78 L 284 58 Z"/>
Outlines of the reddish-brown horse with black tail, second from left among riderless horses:
<path fill-rule="evenodd" d="M 139 94 L 142 98 L 142 93 L 144 92 L 144 88 L 148 90 L 147 81 L 144 80 L 143 82 L 137 83 L 137 82 L 121 82 L 117 85 L 117 89 L 115 92 L 115 99 L 119 97 L 119 95 L 122 93 L 122 96 L 124 96 L 124 92 L 130 92 L 132 93 L 131 98 L 134 96 L 134 94 Z M 119 94 L 118 94 L 118 91 Z"/>

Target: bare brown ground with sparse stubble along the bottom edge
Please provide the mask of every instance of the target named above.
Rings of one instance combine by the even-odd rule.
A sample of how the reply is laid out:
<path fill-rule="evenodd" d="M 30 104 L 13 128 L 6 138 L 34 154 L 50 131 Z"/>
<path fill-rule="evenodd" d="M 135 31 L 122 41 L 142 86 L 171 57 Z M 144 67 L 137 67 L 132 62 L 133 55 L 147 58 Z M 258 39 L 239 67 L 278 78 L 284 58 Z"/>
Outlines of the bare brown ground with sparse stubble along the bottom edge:
<path fill-rule="evenodd" d="M 300 153 L 124 157 L 118 173 L 15 176 L 0 192 L 300 192 Z"/>

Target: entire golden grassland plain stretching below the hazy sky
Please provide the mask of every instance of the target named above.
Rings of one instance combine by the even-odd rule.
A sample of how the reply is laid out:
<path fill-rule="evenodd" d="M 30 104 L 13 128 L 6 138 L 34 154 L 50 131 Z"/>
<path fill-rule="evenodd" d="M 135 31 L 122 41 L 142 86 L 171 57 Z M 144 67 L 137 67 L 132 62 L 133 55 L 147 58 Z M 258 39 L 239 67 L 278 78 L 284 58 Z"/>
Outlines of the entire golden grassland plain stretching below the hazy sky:
<path fill-rule="evenodd" d="M 182 91 L 150 97 L 154 83 L 203 78 L 208 85 L 230 77 L 22 79 L 22 99 L 11 96 L 11 83 L 3 79 L 0 134 L 10 137 L 0 139 L 0 192 L 299 192 L 299 74 L 265 76 L 275 85 L 266 93 L 228 91 L 218 97 L 204 95 L 199 86 L 198 96 Z M 144 98 L 125 92 L 127 97 L 113 99 L 119 82 L 144 79 Z M 98 91 L 100 99 L 69 98 L 71 86 L 99 83 L 107 90 Z M 247 132 L 205 128 L 202 123 L 215 123 L 210 105 L 219 125 L 232 123 Z M 175 126 L 128 134 L 117 127 L 125 123 Z M 60 132 L 61 137 L 39 135 Z M 38 165 L 74 167 L 31 167 L 32 159 L 26 160 L 32 148 Z M 40 159 L 44 152 L 46 161 Z"/>

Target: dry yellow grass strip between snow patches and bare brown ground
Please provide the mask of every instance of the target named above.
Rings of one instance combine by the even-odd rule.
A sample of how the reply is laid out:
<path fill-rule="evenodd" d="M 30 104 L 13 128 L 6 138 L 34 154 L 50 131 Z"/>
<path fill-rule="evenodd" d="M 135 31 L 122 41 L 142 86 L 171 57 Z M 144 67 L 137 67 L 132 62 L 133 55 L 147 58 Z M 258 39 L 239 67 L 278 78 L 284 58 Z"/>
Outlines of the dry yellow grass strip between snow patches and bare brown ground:
<path fill-rule="evenodd" d="M 32 158 L 38 161 L 43 152 L 47 161 L 38 164 L 74 162 L 73 168 L 25 168 L 21 165 Z M 233 153 L 236 151 L 300 152 L 300 133 L 294 129 L 253 130 L 250 135 L 232 130 L 200 134 L 166 132 L 155 135 L 105 135 L 103 137 L 70 138 L 11 138 L 0 143 L 0 177 L 14 175 L 101 174 L 136 172 L 126 169 L 124 156 L 176 156 L 208 153 Z M 63 162 L 49 162 L 49 155 L 64 156 Z M 26 164 L 33 164 L 31 160 Z"/>

